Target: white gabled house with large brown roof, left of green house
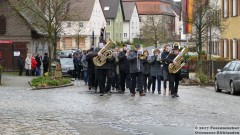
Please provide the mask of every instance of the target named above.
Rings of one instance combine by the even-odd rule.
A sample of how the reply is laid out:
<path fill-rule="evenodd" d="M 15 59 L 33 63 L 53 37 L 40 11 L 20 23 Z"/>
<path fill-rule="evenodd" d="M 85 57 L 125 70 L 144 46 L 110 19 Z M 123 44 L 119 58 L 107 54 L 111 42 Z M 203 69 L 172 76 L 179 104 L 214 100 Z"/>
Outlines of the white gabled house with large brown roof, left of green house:
<path fill-rule="evenodd" d="M 72 0 L 68 21 L 62 23 L 59 49 L 90 49 L 94 33 L 94 45 L 99 42 L 101 29 L 106 27 L 99 0 Z"/>

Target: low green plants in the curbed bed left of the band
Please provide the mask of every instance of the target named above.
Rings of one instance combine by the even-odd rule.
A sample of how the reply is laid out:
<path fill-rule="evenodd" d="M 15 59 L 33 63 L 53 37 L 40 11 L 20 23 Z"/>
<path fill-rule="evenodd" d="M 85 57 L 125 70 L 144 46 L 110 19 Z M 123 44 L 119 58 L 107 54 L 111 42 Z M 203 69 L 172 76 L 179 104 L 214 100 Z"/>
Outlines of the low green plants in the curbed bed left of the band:
<path fill-rule="evenodd" d="M 68 78 L 53 79 L 51 77 L 37 77 L 32 81 L 32 86 L 34 87 L 48 87 L 48 86 L 60 86 L 65 84 L 70 84 L 71 80 Z"/>

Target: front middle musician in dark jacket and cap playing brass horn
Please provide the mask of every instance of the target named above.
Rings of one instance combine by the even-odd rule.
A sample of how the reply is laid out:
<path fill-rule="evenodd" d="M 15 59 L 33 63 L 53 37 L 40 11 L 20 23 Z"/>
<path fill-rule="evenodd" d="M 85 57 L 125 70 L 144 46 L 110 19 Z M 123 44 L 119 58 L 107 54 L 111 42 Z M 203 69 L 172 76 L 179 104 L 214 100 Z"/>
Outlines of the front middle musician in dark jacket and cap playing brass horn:
<path fill-rule="evenodd" d="M 131 96 L 135 96 L 136 91 L 135 88 L 139 91 L 140 96 L 145 96 L 146 94 L 143 92 L 143 64 L 140 59 L 140 55 L 142 51 L 140 51 L 141 46 L 135 45 L 135 50 L 131 50 L 128 54 L 128 61 L 130 64 L 130 73 L 132 77 L 132 86 L 130 88 Z"/>

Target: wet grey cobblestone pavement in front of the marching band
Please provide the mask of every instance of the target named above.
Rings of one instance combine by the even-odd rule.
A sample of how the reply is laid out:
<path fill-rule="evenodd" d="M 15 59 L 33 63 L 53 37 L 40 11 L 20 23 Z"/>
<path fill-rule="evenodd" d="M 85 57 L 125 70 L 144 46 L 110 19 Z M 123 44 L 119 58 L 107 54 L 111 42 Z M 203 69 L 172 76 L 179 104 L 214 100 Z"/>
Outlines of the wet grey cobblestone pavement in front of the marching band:
<path fill-rule="evenodd" d="M 199 125 L 240 125 L 240 98 L 212 87 L 180 86 L 179 98 L 147 93 L 94 94 L 75 86 L 29 90 L 29 77 L 6 77 L 0 87 L 0 134 L 194 134 Z"/>

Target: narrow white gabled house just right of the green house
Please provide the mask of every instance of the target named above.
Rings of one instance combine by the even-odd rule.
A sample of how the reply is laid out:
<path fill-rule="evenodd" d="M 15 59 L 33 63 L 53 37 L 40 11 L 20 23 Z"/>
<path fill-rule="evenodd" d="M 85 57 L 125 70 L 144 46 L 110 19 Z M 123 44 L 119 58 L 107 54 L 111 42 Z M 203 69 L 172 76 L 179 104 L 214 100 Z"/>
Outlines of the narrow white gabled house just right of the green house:
<path fill-rule="evenodd" d="M 134 2 L 123 2 L 125 20 L 123 22 L 123 41 L 132 42 L 134 38 L 139 38 L 139 16 Z"/>

